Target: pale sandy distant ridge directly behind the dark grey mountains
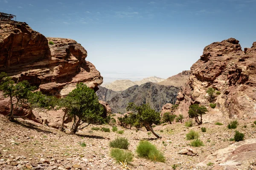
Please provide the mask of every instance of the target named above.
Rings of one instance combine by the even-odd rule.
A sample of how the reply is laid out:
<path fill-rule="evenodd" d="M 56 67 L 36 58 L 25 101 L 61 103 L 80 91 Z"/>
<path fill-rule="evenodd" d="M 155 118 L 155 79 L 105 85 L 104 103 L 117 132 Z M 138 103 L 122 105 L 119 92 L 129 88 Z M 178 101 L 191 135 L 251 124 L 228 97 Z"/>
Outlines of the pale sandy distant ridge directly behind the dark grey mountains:
<path fill-rule="evenodd" d="M 124 91 L 127 88 L 134 86 L 134 85 L 142 85 L 146 82 L 162 82 L 164 79 L 159 77 L 147 77 L 145 79 L 142 79 L 140 81 L 131 81 L 128 79 L 123 80 L 116 80 L 114 82 L 111 82 L 110 84 L 102 85 L 102 87 L 108 88 L 113 91 Z"/>

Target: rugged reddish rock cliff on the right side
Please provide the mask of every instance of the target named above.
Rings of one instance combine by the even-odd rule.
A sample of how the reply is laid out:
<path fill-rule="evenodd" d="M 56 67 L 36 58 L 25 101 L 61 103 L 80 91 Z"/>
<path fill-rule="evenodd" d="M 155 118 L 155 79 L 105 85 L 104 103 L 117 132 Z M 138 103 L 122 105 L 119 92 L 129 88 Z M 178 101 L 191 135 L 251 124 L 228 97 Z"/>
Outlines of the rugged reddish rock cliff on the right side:
<path fill-rule="evenodd" d="M 195 103 L 209 106 L 206 91 L 213 87 L 221 92 L 216 97 L 215 114 L 256 118 L 255 61 L 256 42 L 244 51 L 234 38 L 207 45 L 201 58 L 192 65 L 188 83 L 177 96 L 180 106 L 176 114 L 187 116 L 189 105 Z"/>

